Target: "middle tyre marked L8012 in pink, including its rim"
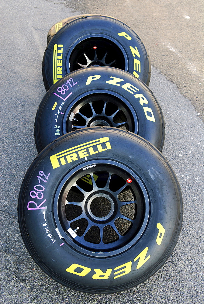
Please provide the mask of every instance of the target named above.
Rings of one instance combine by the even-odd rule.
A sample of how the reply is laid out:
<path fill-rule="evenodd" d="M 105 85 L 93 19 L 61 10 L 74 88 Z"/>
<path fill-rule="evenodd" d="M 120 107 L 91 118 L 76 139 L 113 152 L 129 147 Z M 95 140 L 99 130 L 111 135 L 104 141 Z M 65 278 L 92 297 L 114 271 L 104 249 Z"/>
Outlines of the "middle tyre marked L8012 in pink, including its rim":
<path fill-rule="evenodd" d="M 50 88 L 36 114 L 37 151 L 65 133 L 90 126 L 129 130 L 159 150 L 164 144 L 164 118 L 156 98 L 142 81 L 113 67 L 74 71 Z"/>

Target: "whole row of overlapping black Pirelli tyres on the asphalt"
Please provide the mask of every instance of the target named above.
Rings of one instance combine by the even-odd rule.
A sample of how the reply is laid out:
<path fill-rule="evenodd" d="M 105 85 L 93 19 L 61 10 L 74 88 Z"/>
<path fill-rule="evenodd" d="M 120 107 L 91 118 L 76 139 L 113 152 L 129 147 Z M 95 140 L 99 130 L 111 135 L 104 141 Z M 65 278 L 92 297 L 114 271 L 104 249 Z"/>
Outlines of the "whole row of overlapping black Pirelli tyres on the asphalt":
<path fill-rule="evenodd" d="M 75 16 L 48 33 L 39 155 L 22 182 L 18 216 L 33 260 L 69 288 L 134 287 L 178 240 L 182 194 L 161 154 L 164 118 L 149 80 L 147 51 L 123 22 Z"/>

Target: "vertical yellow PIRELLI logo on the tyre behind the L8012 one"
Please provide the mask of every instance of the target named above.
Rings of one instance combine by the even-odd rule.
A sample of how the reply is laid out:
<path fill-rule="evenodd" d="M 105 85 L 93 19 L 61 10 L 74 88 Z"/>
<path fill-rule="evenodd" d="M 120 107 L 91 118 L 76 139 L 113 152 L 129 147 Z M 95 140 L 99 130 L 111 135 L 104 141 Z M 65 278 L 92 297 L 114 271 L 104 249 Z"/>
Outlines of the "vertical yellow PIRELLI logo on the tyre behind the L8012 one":
<path fill-rule="evenodd" d="M 53 83 L 62 78 L 63 44 L 55 44 L 53 49 Z"/>

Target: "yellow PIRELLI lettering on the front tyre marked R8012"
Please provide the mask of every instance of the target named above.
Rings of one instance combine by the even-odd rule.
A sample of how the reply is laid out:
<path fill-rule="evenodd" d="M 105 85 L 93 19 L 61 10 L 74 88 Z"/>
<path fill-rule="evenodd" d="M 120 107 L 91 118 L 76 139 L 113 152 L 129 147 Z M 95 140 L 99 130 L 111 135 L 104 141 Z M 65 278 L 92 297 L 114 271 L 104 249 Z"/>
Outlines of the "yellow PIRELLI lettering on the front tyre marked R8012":
<path fill-rule="evenodd" d="M 89 147 L 97 146 L 98 152 L 102 152 L 102 151 L 111 149 L 110 143 L 107 143 L 108 141 L 109 141 L 109 137 L 102 137 L 102 138 L 99 138 L 96 140 L 88 141 L 87 143 L 82 143 L 81 145 L 72 147 L 70 149 L 61 151 L 57 154 L 50 156 L 50 161 L 53 166 L 53 169 L 60 167 L 59 160 L 61 161 L 62 165 L 66 164 L 64 157 L 66 157 L 68 162 L 77 160 L 78 159 L 77 154 L 74 152 L 80 151 L 80 152 L 78 152 L 78 155 L 80 158 L 82 158 L 82 157 L 88 156 L 86 148 L 89 148 Z M 103 149 L 101 146 L 101 143 L 106 143 L 107 148 Z M 91 150 L 91 152 L 93 153 L 94 150 Z"/>

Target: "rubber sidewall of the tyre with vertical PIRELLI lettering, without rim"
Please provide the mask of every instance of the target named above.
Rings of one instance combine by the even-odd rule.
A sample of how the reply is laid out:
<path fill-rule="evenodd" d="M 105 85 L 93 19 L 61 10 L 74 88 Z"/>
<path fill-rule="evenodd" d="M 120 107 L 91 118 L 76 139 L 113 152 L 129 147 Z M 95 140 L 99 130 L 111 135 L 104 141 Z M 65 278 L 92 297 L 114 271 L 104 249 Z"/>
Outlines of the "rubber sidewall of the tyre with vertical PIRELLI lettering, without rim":
<path fill-rule="evenodd" d="M 125 34 L 119 36 L 119 33 L 126 33 L 127 36 Z M 44 83 L 47 83 L 48 87 L 51 87 L 54 83 L 53 56 L 56 46 L 57 51 L 62 51 L 62 74 L 59 74 L 60 77 L 70 73 L 69 56 L 74 46 L 81 40 L 97 36 L 114 41 L 124 54 L 127 71 L 131 74 L 133 74 L 133 72 L 137 73 L 138 76 L 136 77 L 139 77 L 140 80 L 149 85 L 150 60 L 144 44 L 137 34 L 126 24 L 106 16 L 88 16 L 85 19 L 75 19 L 62 27 L 57 34 L 53 36 L 48 43 L 43 58 Z M 128 37 L 128 39 L 126 37 Z M 61 46 L 63 46 L 63 48 Z M 132 53 L 130 46 L 134 49 L 137 48 L 139 52 L 138 55 L 134 54 L 134 52 Z M 58 55 L 60 55 L 60 53 Z"/>

